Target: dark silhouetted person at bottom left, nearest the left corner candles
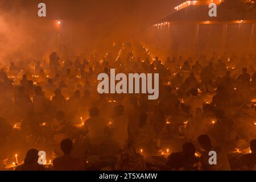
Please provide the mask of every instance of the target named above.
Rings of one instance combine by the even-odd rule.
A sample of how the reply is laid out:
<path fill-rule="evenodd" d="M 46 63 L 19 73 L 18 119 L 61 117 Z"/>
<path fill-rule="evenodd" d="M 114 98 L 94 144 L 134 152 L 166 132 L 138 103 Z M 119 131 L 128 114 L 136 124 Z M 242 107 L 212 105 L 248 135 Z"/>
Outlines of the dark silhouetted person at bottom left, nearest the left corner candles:
<path fill-rule="evenodd" d="M 38 164 L 38 150 L 30 149 L 27 151 L 24 164 L 18 166 L 16 171 L 46 171 L 42 165 Z"/>

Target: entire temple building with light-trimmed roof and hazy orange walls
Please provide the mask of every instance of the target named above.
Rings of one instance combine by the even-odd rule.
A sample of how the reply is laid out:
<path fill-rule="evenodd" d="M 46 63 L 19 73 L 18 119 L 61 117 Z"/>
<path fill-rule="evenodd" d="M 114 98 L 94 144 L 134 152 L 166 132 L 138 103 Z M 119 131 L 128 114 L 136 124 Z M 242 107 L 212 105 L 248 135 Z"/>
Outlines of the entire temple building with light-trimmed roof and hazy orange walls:
<path fill-rule="evenodd" d="M 253 52 L 256 16 L 223 16 L 218 11 L 222 2 L 224 0 L 185 1 L 177 5 L 174 13 L 148 28 L 148 44 L 159 55 L 172 55 L 173 49 L 178 49 L 179 55 Z M 209 16 L 210 3 L 217 5 L 216 17 Z"/>

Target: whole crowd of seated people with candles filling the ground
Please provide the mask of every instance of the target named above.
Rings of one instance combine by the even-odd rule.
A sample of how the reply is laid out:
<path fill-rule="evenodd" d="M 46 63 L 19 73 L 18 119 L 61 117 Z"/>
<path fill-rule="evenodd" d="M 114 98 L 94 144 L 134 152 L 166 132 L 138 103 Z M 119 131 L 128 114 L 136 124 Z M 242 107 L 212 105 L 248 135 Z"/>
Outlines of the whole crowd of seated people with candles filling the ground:
<path fill-rule="evenodd" d="M 141 43 L 115 43 L 104 57 L 63 60 L 53 52 L 42 62 L 2 65 L 1 168 L 14 152 L 40 148 L 51 152 L 50 165 L 30 149 L 11 169 L 255 170 L 255 61 L 214 52 L 161 61 Z M 97 76 L 112 68 L 159 73 L 158 100 L 99 94 Z"/>

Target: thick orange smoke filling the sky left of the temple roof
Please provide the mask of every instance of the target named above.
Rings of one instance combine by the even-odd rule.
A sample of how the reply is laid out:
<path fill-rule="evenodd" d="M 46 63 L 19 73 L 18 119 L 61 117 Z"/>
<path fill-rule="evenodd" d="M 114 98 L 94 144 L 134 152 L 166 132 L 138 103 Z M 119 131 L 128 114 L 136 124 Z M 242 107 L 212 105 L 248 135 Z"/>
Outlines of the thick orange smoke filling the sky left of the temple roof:
<path fill-rule="evenodd" d="M 47 60 L 49 53 L 58 52 L 63 46 L 72 51 L 71 55 L 88 55 L 113 41 L 141 39 L 146 27 L 170 13 L 175 3 L 167 0 L 46 0 L 43 2 L 47 5 L 47 17 L 39 18 L 40 2 L 0 1 L 1 63 Z M 61 30 L 56 30 L 57 19 L 63 19 Z M 61 40 L 58 42 L 58 39 Z"/>

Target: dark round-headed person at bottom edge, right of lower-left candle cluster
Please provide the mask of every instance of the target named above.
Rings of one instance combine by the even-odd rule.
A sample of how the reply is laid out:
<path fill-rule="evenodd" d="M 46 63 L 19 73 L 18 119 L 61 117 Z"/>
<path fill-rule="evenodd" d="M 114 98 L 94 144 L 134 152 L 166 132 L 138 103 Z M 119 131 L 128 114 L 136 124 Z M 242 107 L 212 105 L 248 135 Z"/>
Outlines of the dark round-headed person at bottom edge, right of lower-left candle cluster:
<path fill-rule="evenodd" d="M 53 168 L 55 171 L 83 171 L 84 164 L 79 158 L 71 155 L 73 142 L 71 139 L 64 139 L 60 143 L 60 149 L 64 155 L 53 160 Z"/>

